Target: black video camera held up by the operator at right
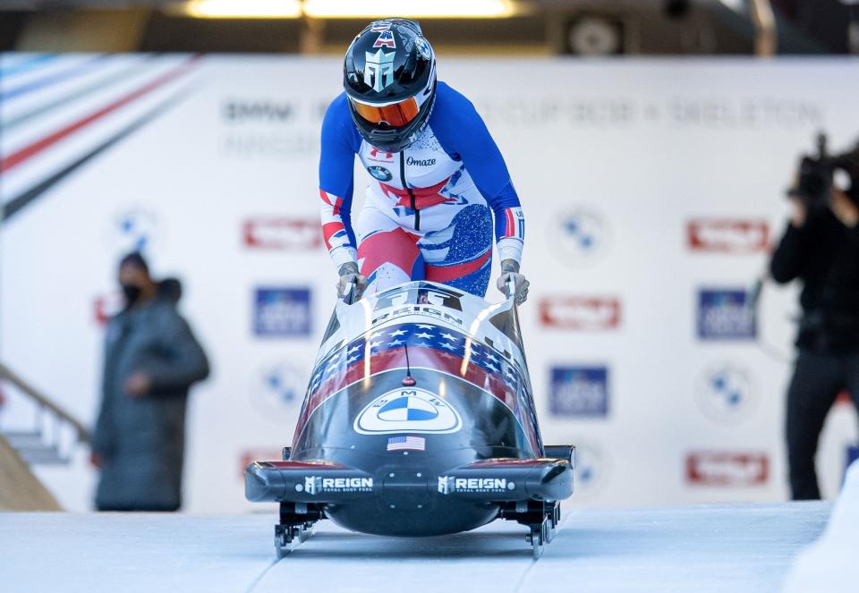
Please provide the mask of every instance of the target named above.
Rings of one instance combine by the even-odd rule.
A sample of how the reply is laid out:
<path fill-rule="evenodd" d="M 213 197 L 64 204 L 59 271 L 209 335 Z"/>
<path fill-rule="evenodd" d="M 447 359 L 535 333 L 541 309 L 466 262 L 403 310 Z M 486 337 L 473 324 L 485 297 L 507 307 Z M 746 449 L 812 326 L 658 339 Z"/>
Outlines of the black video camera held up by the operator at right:
<path fill-rule="evenodd" d="M 787 191 L 790 198 L 801 199 L 809 208 L 829 203 L 833 182 L 838 171 L 850 178 L 847 196 L 859 206 L 859 143 L 845 153 L 830 155 L 825 133 L 817 136 L 817 155 L 805 155 L 799 164 L 795 187 Z"/>

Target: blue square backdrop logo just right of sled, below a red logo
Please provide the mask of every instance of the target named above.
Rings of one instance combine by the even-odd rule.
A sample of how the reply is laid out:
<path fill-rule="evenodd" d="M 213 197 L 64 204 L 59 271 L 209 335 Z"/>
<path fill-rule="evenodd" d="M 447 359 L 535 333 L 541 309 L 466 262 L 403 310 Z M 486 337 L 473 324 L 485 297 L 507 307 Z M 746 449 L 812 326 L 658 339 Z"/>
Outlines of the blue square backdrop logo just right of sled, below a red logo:
<path fill-rule="evenodd" d="M 607 367 L 555 367 L 549 384 L 549 411 L 553 416 L 608 415 Z"/>

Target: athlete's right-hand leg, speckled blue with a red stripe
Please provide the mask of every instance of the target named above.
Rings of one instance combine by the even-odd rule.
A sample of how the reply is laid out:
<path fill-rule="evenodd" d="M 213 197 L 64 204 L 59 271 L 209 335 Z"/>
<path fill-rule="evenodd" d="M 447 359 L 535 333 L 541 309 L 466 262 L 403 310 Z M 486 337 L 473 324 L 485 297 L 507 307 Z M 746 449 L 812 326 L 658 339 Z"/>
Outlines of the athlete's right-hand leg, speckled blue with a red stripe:
<path fill-rule="evenodd" d="M 492 267 L 492 214 L 474 204 L 463 208 L 441 231 L 418 241 L 426 278 L 479 297 L 486 294 Z"/>

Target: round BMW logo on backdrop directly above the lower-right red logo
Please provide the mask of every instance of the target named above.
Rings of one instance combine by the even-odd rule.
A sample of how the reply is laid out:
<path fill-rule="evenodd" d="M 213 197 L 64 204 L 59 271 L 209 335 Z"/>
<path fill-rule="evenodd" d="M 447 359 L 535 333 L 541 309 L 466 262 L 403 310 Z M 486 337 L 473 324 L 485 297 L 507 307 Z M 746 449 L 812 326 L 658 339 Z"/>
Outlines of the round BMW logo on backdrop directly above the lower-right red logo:
<path fill-rule="evenodd" d="M 722 424 L 736 424 L 750 415 L 756 403 L 749 372 L 733 363 L 719 363 L 698 379 L 695 400 L 702 412 Z"/>

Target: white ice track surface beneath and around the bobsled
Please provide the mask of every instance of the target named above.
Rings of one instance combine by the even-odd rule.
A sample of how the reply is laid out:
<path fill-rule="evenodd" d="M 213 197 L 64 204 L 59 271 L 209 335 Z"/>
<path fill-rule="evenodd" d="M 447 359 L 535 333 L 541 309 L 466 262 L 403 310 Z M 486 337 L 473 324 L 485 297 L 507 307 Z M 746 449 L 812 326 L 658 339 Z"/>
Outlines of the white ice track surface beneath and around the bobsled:
<path fill-rule="evenodd" d="M 274 515 L 0 513 L 9 591 L 777 591 L 829 503 L 566 513 L 534 562 L 524 528 L 378 538 L 328 521 L 275 562 Z"/>

